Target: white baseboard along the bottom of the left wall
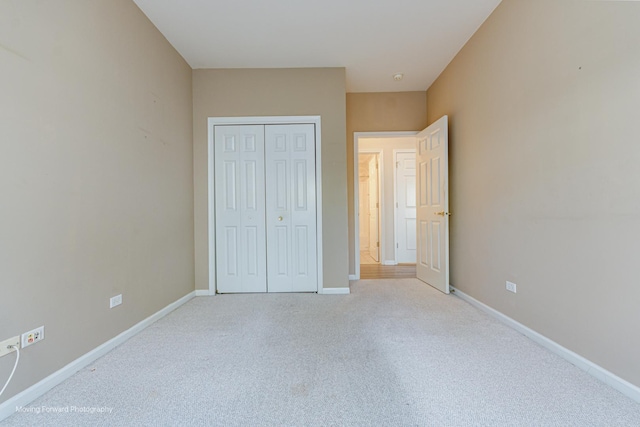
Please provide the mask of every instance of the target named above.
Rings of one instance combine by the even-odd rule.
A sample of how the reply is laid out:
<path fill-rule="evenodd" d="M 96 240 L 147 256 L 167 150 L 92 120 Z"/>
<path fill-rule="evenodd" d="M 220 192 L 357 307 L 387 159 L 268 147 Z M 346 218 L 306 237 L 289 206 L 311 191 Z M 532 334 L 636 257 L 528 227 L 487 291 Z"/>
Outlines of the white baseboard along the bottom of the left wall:
<path fill-rule="evenodd" d="M 85 368 L 86 366 L 94 362 L 96 359 L 104 356 L 105 354 L 107 354 L 108 352 L 116 348 L 118 345 L 122 344 L 123 342 L 127 341 L 129 338 L 133 337 L 134 335 L 142 331 L 147 326 L 163 318 L 164 316 L 171 313 L 176 308 L 188 302 L 190 299 L 195 297 L 195 295 L 196 295 L 196 292 L 194 291 L 183 296 L 179 300 L 172 302 L 162 310 L 158 311 L 155 314 L 152 314 L 151 316 L 133 325 L 126 331 L 115 336 L 114 338 L 110 339 L 104 344 L 101 344 L 98 347 L 91 350 L 90 352 L 80 356 L 73 362 L 57 370 L 53 374 L 37 382 L 36 384 L 32 385 L 28 389 L 7 399 L 5 402 L 0 404 L 0 421 L 4 420 L 10 415 L 13 415 L 16 411 L 16 408 L 26 406 L 29 403 L 33 402 L 35 399 L 42 396 L 43 394 L 51 390 L 53 387 L 57 386 L 58 384 L 66 380 L 67 378 L 71 377 L 73 374 L 75 374 L 79 370 Z"/>

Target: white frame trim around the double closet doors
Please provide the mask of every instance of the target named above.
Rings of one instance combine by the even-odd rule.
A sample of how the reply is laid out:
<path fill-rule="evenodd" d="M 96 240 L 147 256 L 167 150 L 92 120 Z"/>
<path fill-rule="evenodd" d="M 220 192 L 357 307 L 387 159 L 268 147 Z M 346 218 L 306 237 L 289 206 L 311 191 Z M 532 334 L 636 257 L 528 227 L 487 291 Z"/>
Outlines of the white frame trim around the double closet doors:
<path fill-rule="evenodd" d="M 208 117 L 207 118 L 207 159 L 208 159 L 208 227 L 209 227 L 209 294 L 216 295 L 216 219 L 215 219 L 215 126 L 223 125 L 315 125 L 316 145 L 316 254 L 319 294 L 324 293 L 323 254 L 322 254 L 322 138 L 320 116 L 257 116 L 257 117 Z"/>

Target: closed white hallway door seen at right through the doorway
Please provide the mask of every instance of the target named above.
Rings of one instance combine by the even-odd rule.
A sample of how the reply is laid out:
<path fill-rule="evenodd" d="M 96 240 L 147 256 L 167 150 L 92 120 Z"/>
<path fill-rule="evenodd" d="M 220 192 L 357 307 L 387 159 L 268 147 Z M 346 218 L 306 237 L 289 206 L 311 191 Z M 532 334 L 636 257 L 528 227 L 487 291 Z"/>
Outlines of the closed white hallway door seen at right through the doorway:
<path fill-rule="evenodd" d="M 396 155 L 396 261 L 416 262 L 416 153 Z"/>

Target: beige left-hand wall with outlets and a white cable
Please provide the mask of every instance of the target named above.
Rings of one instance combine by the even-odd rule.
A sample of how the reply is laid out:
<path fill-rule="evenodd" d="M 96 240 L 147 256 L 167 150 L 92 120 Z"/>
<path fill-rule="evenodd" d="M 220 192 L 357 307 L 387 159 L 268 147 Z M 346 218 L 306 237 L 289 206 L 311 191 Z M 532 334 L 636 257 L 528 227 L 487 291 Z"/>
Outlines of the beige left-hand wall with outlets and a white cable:
<path fill-rule="evenodd" d="M 0 340 L 46 337 L 4 401 L 194 290 L 193 153 L 191 69 L 129 0 L 0 2 L 0 70 Z"/>

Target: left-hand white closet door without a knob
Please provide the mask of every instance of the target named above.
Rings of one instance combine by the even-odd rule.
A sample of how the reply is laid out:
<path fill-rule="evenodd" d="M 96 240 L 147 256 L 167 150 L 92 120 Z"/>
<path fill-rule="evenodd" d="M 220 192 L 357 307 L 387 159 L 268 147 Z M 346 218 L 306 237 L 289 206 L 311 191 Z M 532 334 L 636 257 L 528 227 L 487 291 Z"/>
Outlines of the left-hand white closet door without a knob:
<path fill-rule="evenodd" d="M 215 127 L 218 292 L 266 292 L 264 126 Z"/>

